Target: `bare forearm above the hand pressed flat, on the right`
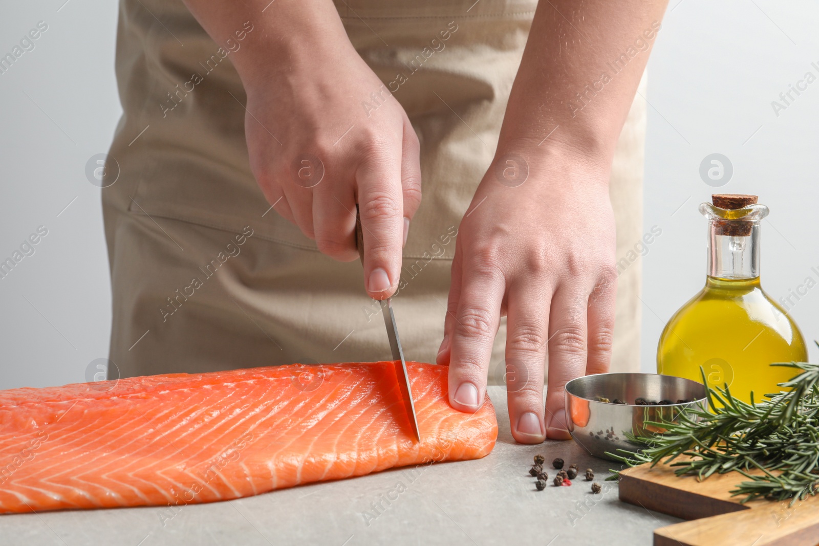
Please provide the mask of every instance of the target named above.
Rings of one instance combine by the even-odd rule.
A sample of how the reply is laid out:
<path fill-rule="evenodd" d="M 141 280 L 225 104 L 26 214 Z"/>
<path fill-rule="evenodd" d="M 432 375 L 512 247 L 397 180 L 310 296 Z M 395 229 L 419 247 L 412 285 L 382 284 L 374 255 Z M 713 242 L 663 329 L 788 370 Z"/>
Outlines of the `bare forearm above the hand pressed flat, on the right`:
<path fill-rule="evenodd" d="M 608 169 L 666 4 L 541 0 L 498 156 L 580 154 Z"/>

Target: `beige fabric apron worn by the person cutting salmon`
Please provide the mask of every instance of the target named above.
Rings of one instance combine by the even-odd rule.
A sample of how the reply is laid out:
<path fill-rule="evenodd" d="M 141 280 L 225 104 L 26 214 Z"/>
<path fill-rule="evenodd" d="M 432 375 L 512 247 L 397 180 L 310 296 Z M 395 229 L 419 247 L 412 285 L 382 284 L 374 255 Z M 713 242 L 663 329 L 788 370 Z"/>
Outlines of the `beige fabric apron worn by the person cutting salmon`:
<path fill-rule="evenodd" d="M 435 362 L 457 228 L 494 154 L 535 6 L 337 0 L 351 42 L 404 106 L 421 144 L 423 202 L 393 299 L 408 359 Z M 251 175 L 246 97 L 230 56 L 259 25 L 251 20 L 242 40 L 219 47 L 179 0 L 120 2 L 124 114 L 110 152 L 118 175 L 102 202 L 111 360 L 122 377 L 390 356 L 360 264 L 321 255 L 269 210 Z M 612 170 L 618 258 L 642 235 L 644 128 L 640 99 Z M 639 287 L 636 262 L 618 282 L 613 370 L 639 369 Z M 503 374 L 504 344 L 505 324 L 491 381 Z"/>

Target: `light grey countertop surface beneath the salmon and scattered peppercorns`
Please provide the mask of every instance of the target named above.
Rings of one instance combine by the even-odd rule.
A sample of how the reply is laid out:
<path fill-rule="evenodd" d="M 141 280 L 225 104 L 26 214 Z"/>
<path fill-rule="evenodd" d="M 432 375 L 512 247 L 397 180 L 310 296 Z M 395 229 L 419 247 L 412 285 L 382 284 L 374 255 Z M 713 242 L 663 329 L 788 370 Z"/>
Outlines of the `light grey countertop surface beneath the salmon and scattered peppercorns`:
<path fill-rule="evenodd" d="M 490 387 L 498 415 L 495 449 L 486 458 L 379 472 L 301 485 L 229 502 L 176 508 L 38 512 L 0 516 L 0 544 L 541 544 L 652 543 L 654 529 L 674 517 L 618 500 L 605 482 L 615 463 L 590 457 L 572 441 L 516 444 L 506 393 Z M 563 458 L 593 468 L 601 494 L 578 479 L 570 487 L 535 490 L 532 457 Z M 380 508 L 378 504 L 380 503 Z"/>

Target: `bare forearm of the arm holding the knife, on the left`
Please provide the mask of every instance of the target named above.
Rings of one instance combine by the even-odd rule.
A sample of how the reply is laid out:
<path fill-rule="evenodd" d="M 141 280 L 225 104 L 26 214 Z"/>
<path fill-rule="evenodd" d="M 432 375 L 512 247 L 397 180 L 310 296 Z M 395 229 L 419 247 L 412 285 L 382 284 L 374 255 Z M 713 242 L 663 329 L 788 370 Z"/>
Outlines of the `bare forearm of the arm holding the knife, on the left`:
<path fill-rule="evenodd" d="M 252 25 L 251 39 L 231 55 L 242 83 L 269 82 L 271 76 L 320 62 L 350 47 L 331 0 L 183 0 L 203 29 L 222 46 Z"/>

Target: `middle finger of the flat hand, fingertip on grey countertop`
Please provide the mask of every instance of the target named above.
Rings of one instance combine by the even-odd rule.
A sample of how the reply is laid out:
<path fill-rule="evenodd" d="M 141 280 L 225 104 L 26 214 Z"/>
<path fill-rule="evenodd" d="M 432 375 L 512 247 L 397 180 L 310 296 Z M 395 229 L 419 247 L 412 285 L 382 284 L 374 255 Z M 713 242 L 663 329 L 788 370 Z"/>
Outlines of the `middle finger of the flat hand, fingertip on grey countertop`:
<path fill-rule="evenodd" d="M 543 376 L 551 291 L 531 280 L 509 287 L 506 317 L 506 392 L 512 436 L 522 444 L 545 440 Z"/>

